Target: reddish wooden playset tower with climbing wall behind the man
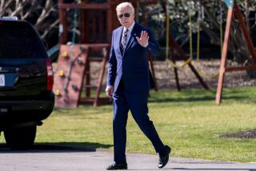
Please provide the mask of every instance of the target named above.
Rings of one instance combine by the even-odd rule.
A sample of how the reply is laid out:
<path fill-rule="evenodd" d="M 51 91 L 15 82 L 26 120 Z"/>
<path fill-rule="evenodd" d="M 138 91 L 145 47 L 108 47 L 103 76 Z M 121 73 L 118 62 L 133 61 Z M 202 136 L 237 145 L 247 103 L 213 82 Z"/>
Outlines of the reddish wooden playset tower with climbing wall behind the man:
<path fill-rule="evenodd" d="M 119 26 L 115 8 L 120 2 L 122 1 L 106 0 L 106 2 L 96 3 L 84 0 L 66 3 L 64 0 L 58 0 L 60 51 L 57 70 L 54 74 L 55 107 L 76 108 L 78 104 L 83 103 L 98 106 L 110 101 L 107 97 L 100 97 L 100 92 L 110 50 L 110 36 L 112 30 Z M 131 2 L 136 10 L 138 6 L 146 6 L 158 1 L 134 0 Z M 72 42 L 68 35 L 69 10 L 74 10 Z M 75 38 L 74 32 L 77 28 L 80 35 Z M 154 67 L 150 57 L 149 61 L 154 77 Z M 90 82 L 90 62 L 100 62 L 102 65 L 96 85 Z M 81 97 L 83 87 L 85 87 L 85 97 Z M 157 85 L 155 87 L 157 89 Z M 94 96 L 91 95 L 93 88 L 96 88 Z"/>

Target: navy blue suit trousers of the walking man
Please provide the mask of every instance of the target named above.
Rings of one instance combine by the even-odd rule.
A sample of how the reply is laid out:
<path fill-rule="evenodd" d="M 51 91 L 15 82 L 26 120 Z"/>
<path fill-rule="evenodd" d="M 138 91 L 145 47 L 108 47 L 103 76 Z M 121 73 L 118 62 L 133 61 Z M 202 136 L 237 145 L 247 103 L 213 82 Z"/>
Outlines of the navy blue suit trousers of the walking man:
<path fill-rule="evenodd" d="M 154 128 L 153 121 L 150 121 L 147 114 L 147 98 L 148 93 L 126 92 L 122 81 L 113 94 L 114 161 L 117 163 L 126 161 L 126 123 L 129 109 L 139 128 L 154 145 L 156 153 L 164 149 L 164 145 Z"/>

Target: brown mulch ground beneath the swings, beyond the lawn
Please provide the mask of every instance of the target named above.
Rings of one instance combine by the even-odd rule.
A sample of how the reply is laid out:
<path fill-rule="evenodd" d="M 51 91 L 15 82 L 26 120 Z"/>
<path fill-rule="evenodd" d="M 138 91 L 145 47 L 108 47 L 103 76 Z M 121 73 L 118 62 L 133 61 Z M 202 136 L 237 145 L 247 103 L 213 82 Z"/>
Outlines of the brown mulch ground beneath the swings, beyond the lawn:
<path fill-rule="evenodd" d="M 177 62 L 177 66 L 182 66 L 184 62 Z M 210 89 L 216 89 L 218 85 L 218 71 L 220 60 L 194 60 L 192 62 L 195 70 L 202 76 Z M 227 62 L 227 66 L 238 66 L 234 62 Z M 168 62 L 154 62 L 154 70 L 159 89 L 176 89 L 174 67 Z M 188 65 L 178 67 L 178 78 L 182 89 L 202 88 L 198 78 L 190 70 Z M 256 79 L 251 79 L 246 71 L 226 73 L 224 87 L 252 86 L 256 85 Z"/>

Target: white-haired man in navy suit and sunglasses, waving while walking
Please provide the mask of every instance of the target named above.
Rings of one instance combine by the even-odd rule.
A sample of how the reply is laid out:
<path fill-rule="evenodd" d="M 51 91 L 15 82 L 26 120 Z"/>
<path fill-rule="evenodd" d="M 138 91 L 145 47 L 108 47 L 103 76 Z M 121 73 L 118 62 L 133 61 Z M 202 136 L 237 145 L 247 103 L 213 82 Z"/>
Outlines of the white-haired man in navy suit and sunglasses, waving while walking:
<path fill-rule="evenodd" d="M 158 55 L 160 50 L 144 26 L 134 22 L 134 6 L 122 2 L 116 8 L 122 26 L 113 31 L 110 50 L 106 95 L 113 98 L 114 164 L 106 169 L 127 169 L 126 122 L 130 109 L 142 132 L 154 145 L 159 155 L 158 168 L 169 160 L 170 147 L 164 145 L 148 116 L 150 82 L 148 54 Z"/>

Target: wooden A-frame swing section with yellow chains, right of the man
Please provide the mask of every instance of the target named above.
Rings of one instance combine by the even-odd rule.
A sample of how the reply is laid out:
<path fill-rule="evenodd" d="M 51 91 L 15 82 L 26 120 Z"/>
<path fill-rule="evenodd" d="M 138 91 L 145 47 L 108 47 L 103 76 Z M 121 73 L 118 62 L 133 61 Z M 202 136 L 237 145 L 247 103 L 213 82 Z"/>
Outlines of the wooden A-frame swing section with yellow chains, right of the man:
<path fill-rule="evenodd" d="M 227 18 L 226 18 L 226 30 L 225 30 L 225 37 L 224 42 L 222 41 L 222 2 L 224 2 L 228 8 Z M 236 0 L 222 0 L 220 1 L 220 7 L 221 7 L 221 24 L 220 24 L 220 37 L 221 37 L 221 62 L 220 62 L 220 69 L 218 74 L 215 74 L 212 76 L 212 78 L 218 76 L 218 88 L 216 92 L 215 102 L 219 104 L 222 101 L 222 89 L 223 89 L 223 83 L 224 83 L 224 76 L 226 72 L 233 72 L 233 71 L 242 71 L 242 70 L 256 70 L 256 52 L 254 50 L 253 42 L 250 38 L 249 31 L 246 29 L 246 24 L 244 22 L 244 19 L 241 14 L 241 10 L 238 6 L 238 2 Z M 205 89 L 209 89 L 208 85 L 203 81 L 202 79 L 202 72 L 195 70 L 194 66 L 192 66 L 191 62 L 193 59 L 193 50 L 192 50 L 192 28 L 191 28 L 191 15 L 189 14 L 190 18 L 190 58 L 186 56 L 186 53 L 182 50 L 182 48 L 178 45 L 177 42 L 174 41 L 174 38 L 172 38 L 169 34 L 170 30 L 170 18 L 169 18 L 169 10 L 168 10 L 168 1 L 166 3 L 166 61 L 170 63 L 170 66 L 173 66 L 174 68 L 174 74 L 175 74 L 175 80 L 177 89 L 180 90 L 179 82 L 178 82 L 178 68 L 182 68 L 186 65 L 190 66 L 190 70 L 192 70 L 195 74 L 195 76 L 198 78 L 199 82 L 202 84 L 202 86 Z M 200 11 L 200 10 L 199 10 Z M 248 49 L 250 50 L 250 55 L 253 64 L 250 66 L 226 66 L 226 59 L 227 59 L 227 53 L 228 53 L 228 47 L 229 47 L 229 38 L 230 38 L 230 29 L 231 29 L 231 23 L 233 21 L 233 14 L 236 14 L 238 18 L 238 22 L 241 26 L 242 33 L 246 39 L 246 44 L 248 46 Z M 197 45 L 197 59 L 199 60 L 199 50 L 200 50 L 200 22 L 202 18 L 200 18 L 200 12 L 198 12 L 198 45 Z M 184 64 L 182 66 L 175 65 L 175 58 L 170 58 L 169 50 L 177 50 L 180 54 L 180 58 L 184 61 Z"/>

